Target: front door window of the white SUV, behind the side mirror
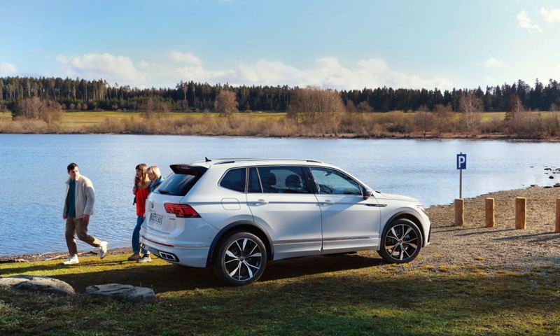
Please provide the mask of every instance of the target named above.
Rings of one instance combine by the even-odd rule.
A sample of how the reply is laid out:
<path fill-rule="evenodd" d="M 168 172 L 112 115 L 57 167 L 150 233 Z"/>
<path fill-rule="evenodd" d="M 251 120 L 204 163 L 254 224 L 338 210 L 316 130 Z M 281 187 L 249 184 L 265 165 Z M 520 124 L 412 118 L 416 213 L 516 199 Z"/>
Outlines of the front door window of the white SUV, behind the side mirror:
<path fill-rule="evenodd" d="M 335 169 L 311 167 L 319 194 L 362 195 L 360 185 Z"/>

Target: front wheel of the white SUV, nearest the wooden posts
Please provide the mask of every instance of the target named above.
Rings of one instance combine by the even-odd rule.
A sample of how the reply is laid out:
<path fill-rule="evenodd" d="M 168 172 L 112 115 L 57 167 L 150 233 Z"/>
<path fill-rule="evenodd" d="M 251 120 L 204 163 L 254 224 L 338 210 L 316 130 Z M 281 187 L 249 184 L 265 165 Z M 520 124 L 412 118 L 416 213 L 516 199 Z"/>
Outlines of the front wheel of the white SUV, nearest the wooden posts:
<path fill-rule="evenodd" d="M 386 226 L 377 252 L 386 262 L 402 264 L 416 258 L 422 242 L 418 226 L 409 219 L 400 218 Z"/>

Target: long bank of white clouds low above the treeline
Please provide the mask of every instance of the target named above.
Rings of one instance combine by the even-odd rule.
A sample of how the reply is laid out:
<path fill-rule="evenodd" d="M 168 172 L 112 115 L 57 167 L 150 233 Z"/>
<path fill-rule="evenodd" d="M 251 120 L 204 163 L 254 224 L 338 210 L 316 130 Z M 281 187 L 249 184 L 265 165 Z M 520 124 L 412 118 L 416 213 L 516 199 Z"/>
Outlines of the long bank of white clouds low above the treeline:
<path fill-rule="evenodd" d="M 439 87 L 451 88 L 447 78 L 421 78 L 411 73 L 391 69 L 384 59 L 362 59 L 354 66 L 340 64 L 336 57 L 321 57 L 310 69 L 260 59 L 254 63 L 241 62 L 230 69 L 208 69 L 202 60 L 191 53 L 169 52 L 177 63 L 139 61 L 108 53 L 81 56 L 58 56 L 66 76 L 86 79 L 104 78 L 109 83 L 137 87 L 174 87 L 181 80 L 230 83 L 232 85 L 290 85 L 360 89 L 363 87 Z"/>

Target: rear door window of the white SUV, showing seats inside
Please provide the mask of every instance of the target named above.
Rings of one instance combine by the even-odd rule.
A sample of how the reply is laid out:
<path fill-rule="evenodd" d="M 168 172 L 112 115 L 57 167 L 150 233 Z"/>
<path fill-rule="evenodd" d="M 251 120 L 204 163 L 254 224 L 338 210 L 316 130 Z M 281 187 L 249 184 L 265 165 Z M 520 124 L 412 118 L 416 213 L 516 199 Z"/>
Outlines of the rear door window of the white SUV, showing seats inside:
<path fill-rule="evenodd" d="M 260 183 L 264 193 L 311 194 L 304 179 L 302 167 L 276 166 L 258 167 Z"/>

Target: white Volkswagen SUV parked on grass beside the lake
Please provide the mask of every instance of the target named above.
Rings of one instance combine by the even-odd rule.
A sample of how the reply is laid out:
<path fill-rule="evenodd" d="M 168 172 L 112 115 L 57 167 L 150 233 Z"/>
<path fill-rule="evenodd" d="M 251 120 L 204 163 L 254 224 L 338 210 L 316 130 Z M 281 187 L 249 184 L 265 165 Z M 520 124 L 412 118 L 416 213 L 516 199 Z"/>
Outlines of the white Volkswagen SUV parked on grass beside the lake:
<path fill-rule="evenodd" d="M 172 165 L 151 193 L 141 244 L 160 258 L 256 281 L 268 260 L 377 250 L 409 262 L 430 241 L 411 197 L 379 193 L 314 160 L 214 159 Z"/>

